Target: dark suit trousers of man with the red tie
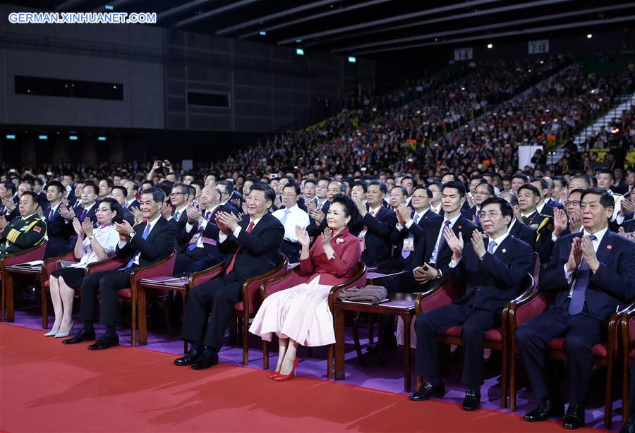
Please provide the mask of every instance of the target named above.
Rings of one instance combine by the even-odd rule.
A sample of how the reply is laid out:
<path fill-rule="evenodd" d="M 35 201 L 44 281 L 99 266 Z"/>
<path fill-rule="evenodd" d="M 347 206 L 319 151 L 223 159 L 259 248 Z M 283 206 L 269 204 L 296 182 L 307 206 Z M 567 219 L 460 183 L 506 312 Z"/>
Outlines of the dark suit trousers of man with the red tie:
<path fill-rule="evenodd" d="M 234 304 L 241 300 L 243 283 L 232 272 L 229 276 L 219 276 L 195 286 L 188 295 L 181 339 L 202 342 L 219 351 Z M 212 305 L 212 314 L 208 322 L 209 305 Z"/>

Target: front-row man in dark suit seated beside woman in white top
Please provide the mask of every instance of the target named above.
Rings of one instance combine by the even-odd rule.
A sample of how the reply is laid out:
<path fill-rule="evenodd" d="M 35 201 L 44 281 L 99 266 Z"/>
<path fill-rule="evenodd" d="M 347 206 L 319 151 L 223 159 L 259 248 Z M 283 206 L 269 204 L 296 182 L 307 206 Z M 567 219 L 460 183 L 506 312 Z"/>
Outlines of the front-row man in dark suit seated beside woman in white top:
<path fill-rule="evenodd" d="M 95 340 L 93 320 L 97 306 L 97 292 L 101 295 L 99 305 L 99 323 L 106 325 L 105 334 L 96 343 L 88 346 L 90 350 L 107 349 L 119 345 L 115 324 L 117 317 L 117 291 L 130 286 L 130 274 L 137 267 L 145 267 L 169 256 L 176 227 L 169 224 L 159 213 L 165 201 L 165 194 L 159 188 L 150 188 L 141 195 L 141 212 L 145 222 L 132 227 L 128 221 L 115 224 L 119 232 L 119 245 L 116 257 L 130 257 L 121 269 L 97 272 L 85 277 L 82 285 L 82 303 L 80 318 L 84 327 L 73 338 L 63 343 L 75 344 Z"/>

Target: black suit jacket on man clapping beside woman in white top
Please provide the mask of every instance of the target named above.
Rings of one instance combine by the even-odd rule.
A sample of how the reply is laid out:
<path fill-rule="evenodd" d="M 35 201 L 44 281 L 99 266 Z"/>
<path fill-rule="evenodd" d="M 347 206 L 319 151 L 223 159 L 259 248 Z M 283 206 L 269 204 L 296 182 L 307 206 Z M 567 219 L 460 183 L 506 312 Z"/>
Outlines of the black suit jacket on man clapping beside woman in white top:
<path fill-rule="evenodd" d="M 145 230 L 146 224 L 146 222 L 143 222 L 133 227 L 135 236 L 129 239 L 128 243 L 123 245 L 123 248 L 119 248 L 119 245 L 117 245 L 117 258 L 131 258 L 138 252 L 141 252 L 139 256 L 139 266 L 144 267 L 162 260 L 170 254 L 174 245 L 176 225 L 171 224 L 163 216 L 159 216 L 147 239 L 144 239 L 143 231 Z"/>

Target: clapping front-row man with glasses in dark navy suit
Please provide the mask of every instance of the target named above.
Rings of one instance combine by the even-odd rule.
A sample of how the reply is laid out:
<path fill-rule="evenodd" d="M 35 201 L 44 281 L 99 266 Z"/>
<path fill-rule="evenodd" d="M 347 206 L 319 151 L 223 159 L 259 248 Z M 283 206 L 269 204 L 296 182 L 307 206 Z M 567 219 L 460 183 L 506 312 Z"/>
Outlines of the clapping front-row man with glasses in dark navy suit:
<path fill-rule="evenodd" d="M 465 292 L 455 303 L 417 316 L 415 370 L 427 381 L 410 396 L 413 401 L 445 394 L 437 365 L 437 336 L 460 324 L 464 350 L 461 382 L 467 387 L 463 409 L 478 409 L 485 331 L 500 325 L 505 303 L 520 294 L 531 268 L 531 247 L 507 232 L 514 218 L 512 206 L 501 197 L 492 197 L 483 201 L 481 209 L 485 237 L 475 230 L 470 240 L 462 233 L 457 238 L 452 229 L 444 229 L 453 253 L 449 278 L 454 287 L 464 287 Z"/>

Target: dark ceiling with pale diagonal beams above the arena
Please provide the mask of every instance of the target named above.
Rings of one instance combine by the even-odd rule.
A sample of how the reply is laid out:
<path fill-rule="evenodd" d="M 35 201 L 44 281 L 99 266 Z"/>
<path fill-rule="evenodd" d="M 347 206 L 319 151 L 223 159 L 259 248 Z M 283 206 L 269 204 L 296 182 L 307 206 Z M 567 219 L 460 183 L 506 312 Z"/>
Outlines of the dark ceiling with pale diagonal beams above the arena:
<path fill-rule="evenodd" d="M 630 29 L 624 0 L 25 0 L 50 11 L 157 12 L 158 25 L 377 58 L 407 49 Z M 265 34 L 262 35 L 261 32 Z"/>

